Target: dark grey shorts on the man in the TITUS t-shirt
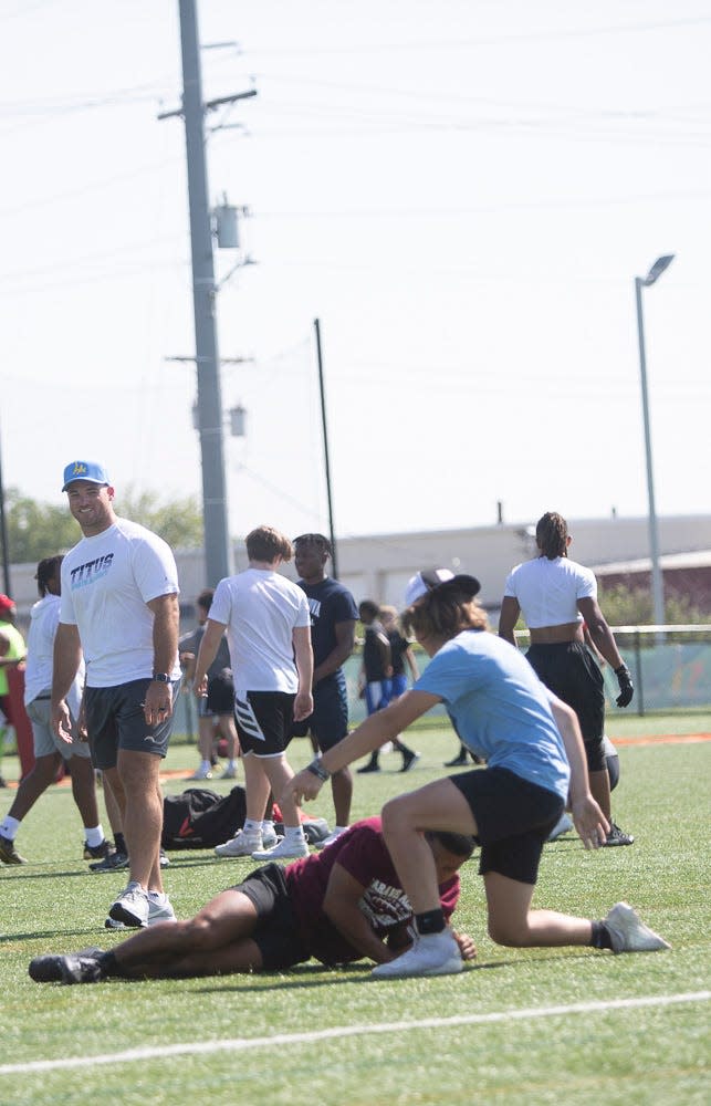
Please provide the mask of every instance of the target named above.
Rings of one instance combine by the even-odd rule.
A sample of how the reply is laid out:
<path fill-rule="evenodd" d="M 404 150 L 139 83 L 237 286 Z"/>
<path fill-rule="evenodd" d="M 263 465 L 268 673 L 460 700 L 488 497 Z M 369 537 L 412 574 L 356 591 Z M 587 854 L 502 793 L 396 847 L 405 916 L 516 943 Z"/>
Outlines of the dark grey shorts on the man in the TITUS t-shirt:
<path fill-rule="evenodd" d="M 86 729 L 94 768 L 116 768 L 119 749 L 166 755 L 175 713 L 159 726 L 148 726 L 144 706 L 151 682 L 150 679 L 129 680 L 113 688 L 86 688 Z M 170 687 L 175 708 L 179 681 Z"/>

